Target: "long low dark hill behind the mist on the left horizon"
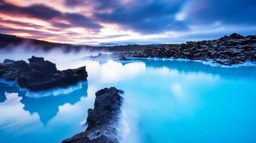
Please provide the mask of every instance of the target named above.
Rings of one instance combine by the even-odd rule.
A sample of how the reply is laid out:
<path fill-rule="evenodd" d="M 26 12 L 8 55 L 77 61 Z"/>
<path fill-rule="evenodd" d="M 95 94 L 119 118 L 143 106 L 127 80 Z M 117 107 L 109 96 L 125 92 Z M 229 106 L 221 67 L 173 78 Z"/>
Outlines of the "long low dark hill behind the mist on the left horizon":
<path fill-rule="evenodd" d="M 1 53 L 27 53 L 27 52 L 79 52 L 79 51 L 137 51 L 146 48 L 146 45 L 138 45 L 132 42 L 103 44 L 102 46 L 90 46 L 79 44 L 61 44 L 48 42 L 44 40 L 36 40 L 30 38 L 18 37 L 15 35 L 7 35 L 0 33 L 0 52 Z M 104 46 L 108 45 L 108 46 Z M 112 46 L 112 47 L 111 47 Z"/>

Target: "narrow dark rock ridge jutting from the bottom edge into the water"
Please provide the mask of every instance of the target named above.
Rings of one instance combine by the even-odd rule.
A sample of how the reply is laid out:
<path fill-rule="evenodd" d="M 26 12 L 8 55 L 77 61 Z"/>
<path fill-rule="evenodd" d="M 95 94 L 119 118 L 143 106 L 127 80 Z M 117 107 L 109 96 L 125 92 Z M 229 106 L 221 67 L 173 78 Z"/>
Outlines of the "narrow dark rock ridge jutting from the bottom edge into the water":
<path fill-rule="evenodd" d="M 62 143 L 120 143 L 123 132 L 118 129 L 124 93 L 115 87 L 96 92 L 94 109 L 88 110 L 88 127 L 85 132 L 65 139 Z"/>

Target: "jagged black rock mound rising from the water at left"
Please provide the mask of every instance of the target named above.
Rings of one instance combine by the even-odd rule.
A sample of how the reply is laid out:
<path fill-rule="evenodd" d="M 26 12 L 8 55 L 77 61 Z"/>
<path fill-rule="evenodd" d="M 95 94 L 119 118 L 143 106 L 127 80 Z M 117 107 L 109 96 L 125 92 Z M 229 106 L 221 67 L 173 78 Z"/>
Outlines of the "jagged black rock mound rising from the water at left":
<path fill-rule="evenodd" d="M 88 74 L 85 66 L 76 69 L 57 70 L 52 62 L 45 61 L 43 57 L 32 56 L 29 64 L 25 61 L 5 59 L 0 64 L 0 78 L 6 83 L 16 81 L 20 88 L 31 91 L 48 90 L 52 88 L 67 88 L 85 81 Z"/>

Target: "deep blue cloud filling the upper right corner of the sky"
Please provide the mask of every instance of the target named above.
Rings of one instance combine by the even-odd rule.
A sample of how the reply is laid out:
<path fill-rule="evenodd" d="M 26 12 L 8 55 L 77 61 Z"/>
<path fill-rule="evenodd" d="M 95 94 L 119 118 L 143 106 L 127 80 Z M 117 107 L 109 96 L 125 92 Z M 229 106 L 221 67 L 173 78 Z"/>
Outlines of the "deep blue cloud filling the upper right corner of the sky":
<path fill-rule="evenodd" d="M 190 24 L 255 25 L 256 0 L 194 0 L 187 12 Z"/>

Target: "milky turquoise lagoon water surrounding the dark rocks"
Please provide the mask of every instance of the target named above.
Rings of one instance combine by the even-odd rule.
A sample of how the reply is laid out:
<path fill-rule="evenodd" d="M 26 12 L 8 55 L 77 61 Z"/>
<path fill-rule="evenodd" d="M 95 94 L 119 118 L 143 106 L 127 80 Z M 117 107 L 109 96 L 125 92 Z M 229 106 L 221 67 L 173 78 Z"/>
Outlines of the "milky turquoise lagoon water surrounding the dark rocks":
<path fill-rule="evenodd" d="M 86 66 L 88 84 L 67 95 L 35 99 L 0 86 L 1 143 L 60 143 L 84 131 L 79 124 L 93 108 L 95 92 L 111 86 L 125 91 L 128 143 L 256 142 L 256 67 L 74 60 L 85 55 L 35 55 L 61 70 Z M 7 54 L 0 61 L 29 57 Z"/>

